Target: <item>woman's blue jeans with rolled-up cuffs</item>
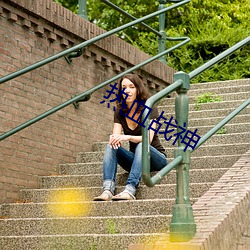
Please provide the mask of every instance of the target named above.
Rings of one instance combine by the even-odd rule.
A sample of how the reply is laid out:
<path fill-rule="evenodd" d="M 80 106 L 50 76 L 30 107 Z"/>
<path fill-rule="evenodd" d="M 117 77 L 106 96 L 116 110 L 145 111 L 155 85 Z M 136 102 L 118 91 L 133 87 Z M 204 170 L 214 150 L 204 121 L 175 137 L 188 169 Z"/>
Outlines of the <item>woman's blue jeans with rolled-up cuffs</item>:
<path fill-rule="evenodd" d="M 142 143 L 136 146 L 135 153 L 123 147 L 110 148 L 108 144 L 103 159 L 103 189 L 115 191 L 117 164 L 129 172 L 125 190 L 135 195 L 142 176 Z M 159 171 L 168 164 L 167 158 L 150 146 L 151 171 Z"/>

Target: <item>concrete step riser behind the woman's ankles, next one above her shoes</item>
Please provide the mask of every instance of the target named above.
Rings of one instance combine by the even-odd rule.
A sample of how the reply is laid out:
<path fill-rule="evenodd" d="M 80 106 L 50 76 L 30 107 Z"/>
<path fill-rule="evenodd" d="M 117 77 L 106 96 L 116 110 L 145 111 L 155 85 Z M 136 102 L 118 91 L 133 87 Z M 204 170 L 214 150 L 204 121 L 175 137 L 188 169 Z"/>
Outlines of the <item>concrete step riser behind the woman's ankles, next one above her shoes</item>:
<path fill-rule="evenodd" d="M 206 183 L 217 181 L 228 168 L 219 169 L 192 169 L 190 170 L 191 183 Z M 118 173 L 116 184 L 125 186 L 128 173 Z M 41 177 L 41 188 L 69 188 L 69 187 L 102 187 L 102 174 L 95 175 L 61 175 Z M 162 178 L 161 184 L 176 183 L 175 171 L 171 171 Z"/>

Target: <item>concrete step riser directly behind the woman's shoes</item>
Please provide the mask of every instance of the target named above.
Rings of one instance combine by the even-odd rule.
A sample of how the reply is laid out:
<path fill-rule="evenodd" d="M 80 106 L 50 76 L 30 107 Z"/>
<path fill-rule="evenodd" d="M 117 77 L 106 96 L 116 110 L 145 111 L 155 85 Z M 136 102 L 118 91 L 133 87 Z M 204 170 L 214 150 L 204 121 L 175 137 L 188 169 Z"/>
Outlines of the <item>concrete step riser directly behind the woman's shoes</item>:
<path fill-rule="evenodd" d="M 190 183 L 190 197 L 197 198 L 203 195 L 211 186 L 213 182 L 204 183 Z M 117 186 L 116 193 L 124 190 L 124 186 Z M 93 197 L 100 195 L 102 187 L 84 187 L 84 188 L 55 188 L 55 189 L 24 189 L 21 190 L 20 201 L 29 203 L 49 202 L 51 197 L 57 194 L 57 201 L 63 202 L 67 194 L 78 194 L 79 201 L 93 200 Z M 62 197 L 59 199 L 59 197 Z M 161 199 L 161 198 L 175 198 L 176 184 L 157 184 L 154 188 L 149 188 L 143 183 L 138 187 L 136 198 L 138 199 Z"/>

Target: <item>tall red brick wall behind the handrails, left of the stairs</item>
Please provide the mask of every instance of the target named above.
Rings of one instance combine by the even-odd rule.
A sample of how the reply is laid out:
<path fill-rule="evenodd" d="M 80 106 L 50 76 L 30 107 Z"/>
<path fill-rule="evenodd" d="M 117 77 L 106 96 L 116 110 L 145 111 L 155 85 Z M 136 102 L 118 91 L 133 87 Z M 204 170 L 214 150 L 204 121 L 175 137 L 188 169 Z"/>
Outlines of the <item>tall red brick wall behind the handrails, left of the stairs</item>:
<path fill-rule="evenodd" d="M 0 77 L 95 37 L 104 31 L 52 0 L 0 1 Z M 68 64 L 60 58 L 0 85 L 0 134 L 110 79 L 148 55 L 115 36 L 87 48 Z M 155 92 L 172 82 L 173 69 L 159 61 L 137 71 Z M 64 108 L 0 142 L 0 203 L 21 188 L 39 186 L 39 176 L 75 162 L 94 141 L 107 140 L 113 112 L 101 105 L 105 89 L 79 109 Z"/>

